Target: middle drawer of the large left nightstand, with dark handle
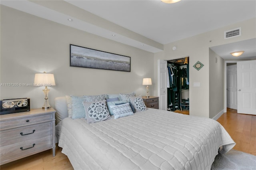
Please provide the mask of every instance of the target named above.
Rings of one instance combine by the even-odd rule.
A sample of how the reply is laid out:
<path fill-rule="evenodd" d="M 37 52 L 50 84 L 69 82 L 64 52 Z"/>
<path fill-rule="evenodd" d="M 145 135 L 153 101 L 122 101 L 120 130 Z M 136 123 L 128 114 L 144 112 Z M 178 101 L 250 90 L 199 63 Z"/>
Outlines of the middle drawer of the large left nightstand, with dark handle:
<path fill-rule="evenodd" d="M 4 130 L 0 132 L 0 147 L 27 140 L 37 140 L 38 138 L 50 136 L 51 134 L 52 122 L 14 128 L 12 130 Z"/>

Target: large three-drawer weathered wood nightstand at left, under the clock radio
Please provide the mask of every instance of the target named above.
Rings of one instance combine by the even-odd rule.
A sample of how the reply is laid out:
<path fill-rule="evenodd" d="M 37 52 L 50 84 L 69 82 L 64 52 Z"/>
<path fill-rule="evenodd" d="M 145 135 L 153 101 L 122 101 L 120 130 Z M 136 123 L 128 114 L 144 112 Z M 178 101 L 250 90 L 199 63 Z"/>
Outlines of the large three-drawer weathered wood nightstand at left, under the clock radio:
<path fill-rule="evenodd" d="M 0 115 L 0 164 L 52 149 L 55 156 L 55 110 Z"/>

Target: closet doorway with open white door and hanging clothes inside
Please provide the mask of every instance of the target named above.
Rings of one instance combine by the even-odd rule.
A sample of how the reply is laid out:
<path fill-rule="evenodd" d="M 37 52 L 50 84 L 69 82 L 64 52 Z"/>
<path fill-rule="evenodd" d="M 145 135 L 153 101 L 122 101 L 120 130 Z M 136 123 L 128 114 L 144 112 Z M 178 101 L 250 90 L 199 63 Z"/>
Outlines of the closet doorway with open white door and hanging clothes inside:
<path fill-rule="evenodd" d="M 189 115 L 189 56 L 158 60 L 160 109 Z"/>

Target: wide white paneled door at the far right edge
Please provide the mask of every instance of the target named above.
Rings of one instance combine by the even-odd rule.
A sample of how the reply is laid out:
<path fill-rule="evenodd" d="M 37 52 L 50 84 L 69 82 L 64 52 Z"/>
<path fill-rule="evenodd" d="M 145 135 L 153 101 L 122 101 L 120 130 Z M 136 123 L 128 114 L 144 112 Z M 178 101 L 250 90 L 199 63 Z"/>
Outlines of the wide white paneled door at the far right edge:
<path fill-rule="evenodd" d="M 256 60 L 237 62 L 237 113 L 256 115 Z"/>

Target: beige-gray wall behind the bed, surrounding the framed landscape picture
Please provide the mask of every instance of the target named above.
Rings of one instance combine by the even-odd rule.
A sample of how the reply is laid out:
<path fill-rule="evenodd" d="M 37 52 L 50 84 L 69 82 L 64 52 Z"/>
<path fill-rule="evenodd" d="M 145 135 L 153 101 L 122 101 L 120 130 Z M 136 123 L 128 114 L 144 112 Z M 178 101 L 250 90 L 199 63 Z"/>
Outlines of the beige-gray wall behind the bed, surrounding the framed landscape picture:
<path fill-rule="evenodd" d="M 76 30 L 1 5 L 0 83 L 34 83 L 35 73 L 54 73 L 56 86 L 49 101 L 64 95 L 100 95 L 136 92 L 146 95 L 142 79 L 151 77 L 154 89 L 154 54 Z M 131 57 L 131 72 L 70 67 L 69 44 Z M 1 99 L 28 97 L 31 108 L 44 103 L 44 87 L 0 88 Z"/>

